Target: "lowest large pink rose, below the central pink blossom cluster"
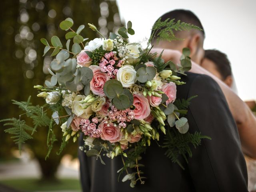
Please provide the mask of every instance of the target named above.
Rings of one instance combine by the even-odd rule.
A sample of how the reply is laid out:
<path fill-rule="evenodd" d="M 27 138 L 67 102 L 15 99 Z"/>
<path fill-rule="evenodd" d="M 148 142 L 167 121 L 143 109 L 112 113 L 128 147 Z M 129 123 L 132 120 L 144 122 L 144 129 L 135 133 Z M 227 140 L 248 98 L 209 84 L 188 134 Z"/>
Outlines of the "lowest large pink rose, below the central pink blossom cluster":
<path fill-rule="evenodd" d="M 102 140 L 114 143 L 119 142 L 122 138 L 121 129 L 118 126 L 114 126 L 113 123 L 107 123 L 104 121 L 99 124 L 98 128 L 101 130 L 100 138 Z"/>

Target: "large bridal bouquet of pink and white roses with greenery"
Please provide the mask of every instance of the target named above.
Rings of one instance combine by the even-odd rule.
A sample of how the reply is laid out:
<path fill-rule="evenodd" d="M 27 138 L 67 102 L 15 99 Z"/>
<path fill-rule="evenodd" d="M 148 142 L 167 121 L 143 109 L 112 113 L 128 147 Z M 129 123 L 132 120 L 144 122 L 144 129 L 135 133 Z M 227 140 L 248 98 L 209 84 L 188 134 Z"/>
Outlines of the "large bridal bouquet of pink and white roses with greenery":
<path fill-rule="evenodd" d="M 199 28 L 180 21 L 158 20 L 147 48 L 142 49 L 140 43 L 128 42 L 128 34 L 134 34 L 130 21 L 118 34 L 110 33 L 109 37 L 104 37 L 93 24 L 88 25 L 100 38 L 86 42 L 88 39 L 80 35 L 85 26 L 74 31 L 73 20 L 67 18 L 60 23 L 60 28 L 68 31 L 65 48 L 58 36 L 51 38 L 51 45 L 41 39 L 46 46 L 44 55 L 49 50 L 53 50 L 51 56 L 56 55 L 48 68 L 51 78 L 44 86 L 34 86 L 46 105 L 32 108 L 29 101 L 14 101 L 34 120 L 35 127 L 13 118 L 9 121 L 16 120 L 21 125 L 14 125 L 6 132 L 15 135 L 15 128 L 22 130 L 23 134 L 14 136 L 20 146 L 31 138 L 28 131 L 33 134 L 36 128 L 49 125 L 49 135 L 54 135 L 53 124 L 58 124 L 63 132 L 61 150 L 66 142 L 76 142 L 83 135 L 84 146 L 80 149 L 87 156 L 96 156 L 102 164 L 103 154 L 109 158 L 122 156 L 124 166 L 119 172 L 127 173 L 122 181 L 130 180 L 130 186 L 134 187 L 137 181 L 144 183 L 138 160 L 152 140 L 164 137 L 166 155 L 180 164 L 177 154 L 191 156 L 188 144 L 197 146 L 205 138 L 197 132 L 188 133 L 185 116 L 189 100 L 176 100 L 176 85 L 185 83 L 177 74 L 185 75 L 191 68 L 189 49 L 183 50 L 178 67 L 171 61 L 164 62 L 162 53 L 160 56 L 150 53 L 153 38 L 175 40 L 173 30 Z M 47 116 L 47 107 L 53 111 L 51 118 Z M 66 114 L 60 116 L 62 109 Z M 51 139 L 49 136 L 48 143 L 54 142 Z M 135 171 L 129 173 L 128 169 L 133 168 Z"/>

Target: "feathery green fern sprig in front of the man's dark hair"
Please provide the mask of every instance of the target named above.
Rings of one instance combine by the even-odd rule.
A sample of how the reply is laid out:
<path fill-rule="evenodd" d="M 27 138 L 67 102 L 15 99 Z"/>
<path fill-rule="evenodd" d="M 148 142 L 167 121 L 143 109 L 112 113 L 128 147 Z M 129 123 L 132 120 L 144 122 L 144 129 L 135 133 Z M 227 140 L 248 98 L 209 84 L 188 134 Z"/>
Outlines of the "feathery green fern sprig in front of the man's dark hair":
<path fill-rule="evenodd" d="M 150 42 L 154 40 L 154 38 L 156 38 L 157 41 L 180 40 L 175 37 L 174 31 L 183 31 L 183 30 L 191 30 L 191 29 L 202 30 L 198 26 L 180 22 L 180 20 L 178 20 L 177 22 L 174 22 L 174 20 L 175 19 L 170 20 L 168 18 L 165 21 L 161 21 L 161 18 L 159 18 L 152 27 L 153 33 L 148 40 L 148 44 L 150 44 Z"/>

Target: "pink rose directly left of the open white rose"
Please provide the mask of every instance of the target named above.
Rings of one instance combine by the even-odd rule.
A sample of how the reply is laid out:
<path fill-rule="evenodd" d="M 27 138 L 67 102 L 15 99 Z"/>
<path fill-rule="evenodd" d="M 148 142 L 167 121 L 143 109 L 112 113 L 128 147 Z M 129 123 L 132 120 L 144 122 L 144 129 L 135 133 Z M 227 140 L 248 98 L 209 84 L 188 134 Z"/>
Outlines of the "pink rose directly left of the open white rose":
<path fill-rule="evenodd" d="M 110 77 L 106 73 L 102 73 L 99 66 L 91 65 L 90 68 L 93 72 L 93 78 L 90 82 L 92 92 L 99 96 L 105 96 L 103 87 L 106 81 L 110 80 Z"/>

